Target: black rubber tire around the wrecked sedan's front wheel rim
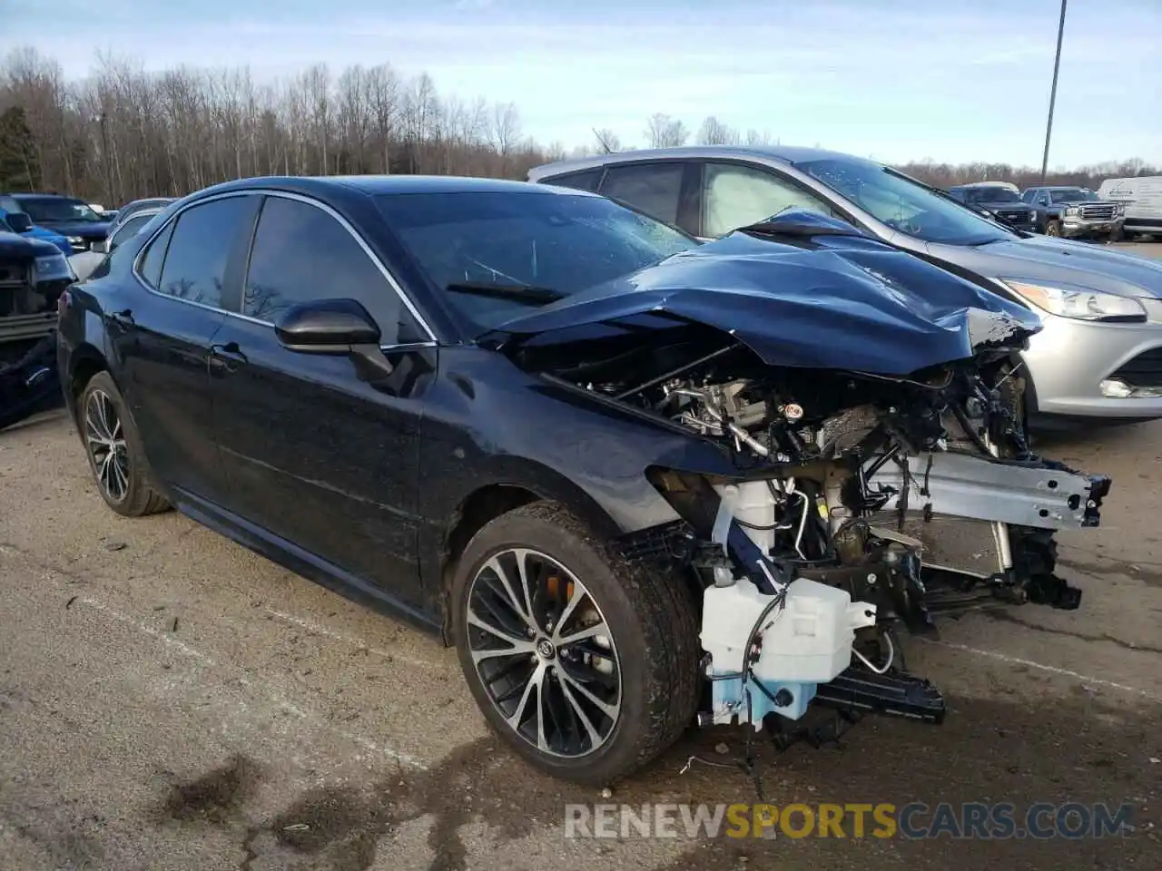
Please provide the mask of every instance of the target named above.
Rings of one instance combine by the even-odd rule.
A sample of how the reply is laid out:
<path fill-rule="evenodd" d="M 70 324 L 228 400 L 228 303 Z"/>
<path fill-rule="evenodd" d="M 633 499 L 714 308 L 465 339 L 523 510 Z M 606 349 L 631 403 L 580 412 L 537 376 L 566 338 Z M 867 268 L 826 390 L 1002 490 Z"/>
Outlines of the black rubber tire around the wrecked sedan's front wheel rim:
<path fill-rule="evenodd" d="M 509 725 L 502 714 L 500 703 L 494 701 L 485 678 L 473 662 L 473 646 L 479 652 L 480 639 L 488 638 L 487 633 L 473 625 L 474 640 L 469 639 L 469 602 L 480 602 L 479 598 L 473 598 L 474 582 L 478 575 L 487 577 L 486 563 L 494 556 L 504 559 L 514 548 L 539 552 L 539 555 L 548 557 L 579 581 L 581 589 L 587 591 L 596 605 L 596 616 L 610 631 L 609 636 L 616 652 L 615 665 L 619 669 L 619 711 L 616 719 L 611 720 L 612 725 L 608 727 L 603 743 L 590 740 L 590 749 L 583 754 L 551 753 L 518 734 L 517 727 Z M 552 580 L 548 578 L 548 582 Z M 489 583 L 486 589 L 494 590 L 495 584 Z M 567 597 L 572 597 L 572 583 L 568 589 Z M 475 595 L 480 596 L 481 592 Z M 476 533 L 457 564 L 450 602 L 460 667 L 489 726 L 540 771 L 564 780 L 601 786 L 648 764 L 669 748 L 694 720 L 701 689 L 701 647 L 693 598 L 684 589 L 682 578 L 676 575 L 662 576 L 625 562 L 562 505 L 538 502 L 497 517 Z M 489 610 L 489 613 L 496 612 Z M 510 625 L 521 626 L 518 622 Z M 552 622 L 548 626 L 552 628 Z M 558 628 L 562 629 L 564 625 Z M 532 638 L 531 632 L 529 635 Z M 568 655 L 562 646 L 558 653 L 561 671 L 566 670 Z M 522 658 L 524 656 L 529 658 Z M 508 655 L 504 657 L 505 667 L 511 663 L 509 671 L 531 669 L 537 657 L 537 653 Z M 545 664 L 550 677 L 539 685 L 548 688 L 547 698 L 552 698 L 555 692 L 560 700 L 562 677 L 553 678 L 553 668 Z M 517 688 L 522 683 L 509 677 L 494 679 L 511 681 Z M 528 681 L 524 685 L 528 685 Z M 510 689 L 508 697 L 511 698 L 515 692 L 516 690 Z M 524 696 L 530 703 L 532 696 L 537 697 L 538 717 L 543 711 L 552 713 L 551 703 L 548 707 L 541 708 L 539 689 L 532 693 L 525 690 Z M 522 710 L 523 707 L 524 705 Z M 573 711 L 576 707 L 574 705 Z M 515 717 L 518 721 L 522 720 L 521 711 Z M 546 718 L 553 721 L 546 729 L 553 727 L 558 719 L 564 718 Z M 572 719 L 572 734 L 580 736 L 582 730 L 575 714 Z M 524 727 L 530 728 L 528 724 Z M 569 733 L 567 729 L 558 729 L 554 734 L 560 736 Z M 580 741 L 583 743 L 583 736 Z"/>

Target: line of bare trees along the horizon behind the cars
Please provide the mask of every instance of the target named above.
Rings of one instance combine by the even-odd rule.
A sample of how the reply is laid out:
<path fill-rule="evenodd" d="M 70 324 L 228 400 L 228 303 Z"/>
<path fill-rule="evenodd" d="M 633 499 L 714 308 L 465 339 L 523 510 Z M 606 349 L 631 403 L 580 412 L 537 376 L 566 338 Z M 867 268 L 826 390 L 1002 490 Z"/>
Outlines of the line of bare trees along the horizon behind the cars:
<path fill-rule="evenodd" d="M 651 115 L 646 147 L 691 143 L 765 145 L 766 130 L 739 131 L 715 116 L 696 131 Z M 145 72 L 98 56 L 92 74 L 66 81 L 60 65 L 31 48 L 0 64 L 0 190 L 58 190 L 116 207 L 150 195 L 178 196 L 251 175 L 430 173 L 524 178 L 538 164 L 622 151 L 609 129 L 567 151 L 524 135 L 512 102 L 440 94 L 426 73 L 389 64 L 316 64 L 279 82 L 249 67 Z M 913 163 L 930 183 L 1038 181 L 1003 164 Z M 1050 183 L 1096 186 L 1111 175 L 1156 174 L 1141 160 L 1054 172 Z"/>

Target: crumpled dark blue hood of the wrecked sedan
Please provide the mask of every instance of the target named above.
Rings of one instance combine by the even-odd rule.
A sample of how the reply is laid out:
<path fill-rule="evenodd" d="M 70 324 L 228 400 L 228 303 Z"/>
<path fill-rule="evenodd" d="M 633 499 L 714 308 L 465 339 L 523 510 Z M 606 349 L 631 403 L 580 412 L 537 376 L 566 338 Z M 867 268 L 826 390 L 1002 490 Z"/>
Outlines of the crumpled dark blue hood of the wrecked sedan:
<path fill-rule="evenodd" d="M 733 333 L 772 366 L 906 375 L 984 346 L 1021 347 L 1040 318 L 849 224 L 786 211 L 514 318 L 500 343 L 664 314 Z"/>

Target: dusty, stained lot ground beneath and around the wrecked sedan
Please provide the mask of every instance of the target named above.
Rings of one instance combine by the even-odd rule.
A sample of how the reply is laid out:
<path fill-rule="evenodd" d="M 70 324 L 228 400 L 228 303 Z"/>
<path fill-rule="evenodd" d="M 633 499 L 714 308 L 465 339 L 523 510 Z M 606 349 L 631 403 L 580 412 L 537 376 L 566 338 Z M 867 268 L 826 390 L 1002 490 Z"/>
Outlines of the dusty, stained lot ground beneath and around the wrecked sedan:
<path fill-rule="evenodd" d="M 766 799 L 1131 801 L 1124 838 L 566 840 L 564 804 L 601 794 L 490 737 L 452 652 L 175 513 L 116 517 L 63 413 L 0 433 L 0 868 L 1156 871 L 1162 423 L 1052 438 L 1114 478 L 1103 526 L 1061 537 L 1082 610 L 909 642 L 947 722 L 781 755 L 760 737 Z M 680 773 L 741 737 L 691 732 L 610 800 L 753 801 L 740 772 Z"/>

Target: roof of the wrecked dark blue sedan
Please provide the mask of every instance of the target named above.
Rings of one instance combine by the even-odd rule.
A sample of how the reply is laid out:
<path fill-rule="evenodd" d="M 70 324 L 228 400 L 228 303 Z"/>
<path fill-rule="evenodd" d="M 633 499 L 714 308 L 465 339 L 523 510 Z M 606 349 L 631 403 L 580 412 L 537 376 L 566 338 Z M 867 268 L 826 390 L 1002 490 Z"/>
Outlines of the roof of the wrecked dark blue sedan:
<path fill-rule="evenodd" d="M 594 196 L 583 190 L 546 188 L 528 181 L 476 179 L 459 175 L 270 175 L 238 179 L 198 192 L 199 195 L 254 189 L 288 190 L 308 195 L 358 193 L 368 196 L 385 194 L 467 194 L 510 193 L 540 195 Z"/>

